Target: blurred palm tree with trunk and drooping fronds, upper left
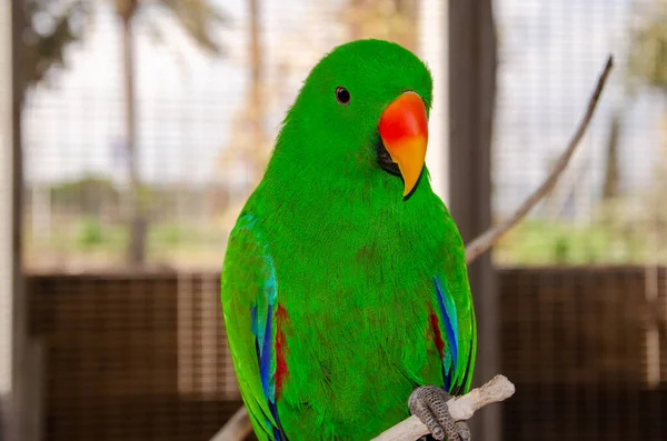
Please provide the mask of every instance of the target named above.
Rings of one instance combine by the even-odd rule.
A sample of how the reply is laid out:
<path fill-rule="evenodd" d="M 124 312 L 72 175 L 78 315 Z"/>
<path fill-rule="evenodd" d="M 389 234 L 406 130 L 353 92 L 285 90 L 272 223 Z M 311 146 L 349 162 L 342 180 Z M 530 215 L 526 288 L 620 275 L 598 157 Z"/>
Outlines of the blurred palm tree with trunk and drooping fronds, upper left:
<path fill-rule="evenodd" d="M 101 0 L 100 0 L 101 1 Z M 141 264 L 146 260 L 147 216 L 141 199 L 141 182 L 138 171 L 137 152 L 137 103 L 135 93 L 135 22 L 138 13 L 145 8 L 165 8 L 170 11 L 186 32 L 200 48 L 219 56 L 221 47 L 216 42 L 211 32 L 216 26 L 226 24 L 227 18 L 210 3 L 210 0 L 106 0 L 113 2 L 116 13 L 122 28 L 122 63 L 126 91 L 126 142 L 128 151 L 128 169 L 130 176 L 129 198 L 129 245 L 128 263 Z M 92 0 L 70 0 L 59 2 L 60 9 L 54 8 L 54 0 L 26 0 L 26 81 L 24 90 L 40 82 L 47 72 L 63 64 L 64 48 L 78 41 L 88 27 L 74 28 L 72 22 L 77 16 L 90 17 L 94 6 Z M 34 18 L 50 16 L 54 26 L 49 33 L 36 29 Z M 153 34 L 160 34 L 155 28 Z"/>

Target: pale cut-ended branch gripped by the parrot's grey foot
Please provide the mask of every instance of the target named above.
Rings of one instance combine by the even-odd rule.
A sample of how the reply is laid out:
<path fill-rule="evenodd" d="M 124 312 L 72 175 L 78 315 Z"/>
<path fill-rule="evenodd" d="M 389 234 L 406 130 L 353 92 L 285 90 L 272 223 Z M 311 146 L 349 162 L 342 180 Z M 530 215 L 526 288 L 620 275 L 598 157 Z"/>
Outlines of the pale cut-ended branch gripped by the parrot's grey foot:
<path fill-rule="evenodd" d="M 454 420 L 465 421 L 472 418 L 475 412 L 485 405 L 507 400 L 514 395 L 514 392 L 515 387 L 506 377 L 496 375 L 481 388 L 472 389 L 465 395 L 448 401 L 447 405 Z M 429 433 L 426 425 L 412 415 L 386 430 L 371 441 L 415 441 Z"/>

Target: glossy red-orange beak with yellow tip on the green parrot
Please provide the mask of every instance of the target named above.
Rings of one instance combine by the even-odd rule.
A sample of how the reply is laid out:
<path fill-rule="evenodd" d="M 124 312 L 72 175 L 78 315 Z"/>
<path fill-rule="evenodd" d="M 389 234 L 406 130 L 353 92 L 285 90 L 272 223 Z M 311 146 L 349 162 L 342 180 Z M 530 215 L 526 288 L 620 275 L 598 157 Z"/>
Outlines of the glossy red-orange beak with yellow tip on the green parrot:
<path fill-rule="evenodd" d="M 404 197 L 410 194 L 426 160 L 428 120 L 421 97 L 405 92 L 391 102 L 380 117 L 380 138 L 398 164 L 404 179 Z"/>

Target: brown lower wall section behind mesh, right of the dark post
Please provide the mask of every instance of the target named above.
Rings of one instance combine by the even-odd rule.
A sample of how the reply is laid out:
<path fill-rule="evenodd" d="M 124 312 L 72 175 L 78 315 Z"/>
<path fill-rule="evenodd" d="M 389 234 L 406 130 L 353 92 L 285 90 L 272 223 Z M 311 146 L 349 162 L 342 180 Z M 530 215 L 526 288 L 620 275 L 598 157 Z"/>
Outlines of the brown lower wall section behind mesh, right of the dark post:
<path fill-rule="evenodd" d="M 517 382 L 506 439 L 665 439 L 665 320 L 658 338 L 648 319 L 667 304 L 664 278 L 624 267 L 500 272 L 501 364 Z"/>

